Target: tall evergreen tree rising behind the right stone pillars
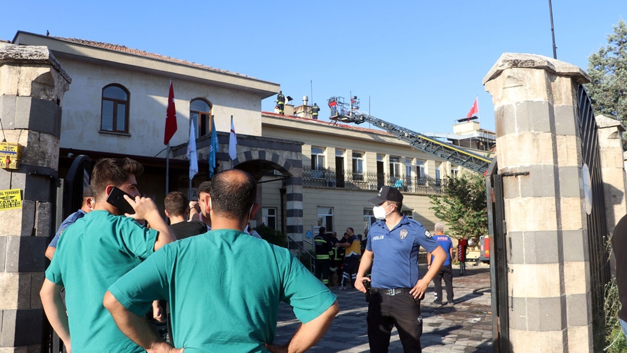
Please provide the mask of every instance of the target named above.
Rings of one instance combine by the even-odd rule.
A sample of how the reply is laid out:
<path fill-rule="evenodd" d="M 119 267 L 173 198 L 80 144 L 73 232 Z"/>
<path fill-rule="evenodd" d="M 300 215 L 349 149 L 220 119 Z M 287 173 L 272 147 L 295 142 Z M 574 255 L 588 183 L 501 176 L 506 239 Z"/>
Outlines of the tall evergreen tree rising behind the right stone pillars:
<path fill-rule="evenodd" d="M 588 75 L 591 82 L 586 90 L 592 101 L 594 114 L 603 114 L 621 121 L 627 120 L 627 25 L 623 19 L 608 35 L 608 45 L 588 57 Z M 623 149 L 627 150 L 627 136 L 623 135 Z"/>

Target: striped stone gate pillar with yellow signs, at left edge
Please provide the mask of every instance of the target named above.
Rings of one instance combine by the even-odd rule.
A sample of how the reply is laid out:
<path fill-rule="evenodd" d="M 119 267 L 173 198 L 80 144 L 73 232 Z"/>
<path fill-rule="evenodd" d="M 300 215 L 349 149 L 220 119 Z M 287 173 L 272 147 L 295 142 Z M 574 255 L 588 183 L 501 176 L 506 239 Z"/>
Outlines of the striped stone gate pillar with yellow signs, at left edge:
<path fill-rule="evenodd" d="M 39 290 L 59 161 L 61 101 L 71 82 L 46 46 L 0 43 L 0 117 L 22 146 L 19 169 L 0 169 L 0 190 L 19 189 L 21 208 L 0 210 L 0 352 L 38 352 Z"/>

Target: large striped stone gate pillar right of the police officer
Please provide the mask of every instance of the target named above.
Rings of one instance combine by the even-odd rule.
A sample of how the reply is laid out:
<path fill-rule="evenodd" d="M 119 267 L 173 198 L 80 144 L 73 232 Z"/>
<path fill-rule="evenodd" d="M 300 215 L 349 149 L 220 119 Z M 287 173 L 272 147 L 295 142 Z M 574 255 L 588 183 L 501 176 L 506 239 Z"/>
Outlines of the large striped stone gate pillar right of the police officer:
<path fill-rule="evenodd" d="M 569 63 L 515 53 L 483 80 L 504 176 L 512 352 L 593 349 L 577 122 L 577 85 L 588 81 Z"/>

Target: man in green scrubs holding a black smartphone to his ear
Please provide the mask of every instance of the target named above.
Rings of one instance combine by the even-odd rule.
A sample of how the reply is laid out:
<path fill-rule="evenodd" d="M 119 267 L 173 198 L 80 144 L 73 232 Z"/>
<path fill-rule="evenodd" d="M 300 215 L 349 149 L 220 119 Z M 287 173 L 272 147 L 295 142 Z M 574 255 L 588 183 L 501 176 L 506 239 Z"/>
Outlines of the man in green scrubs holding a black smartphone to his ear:
<path fill-rule="evenodd" d="M 50 324 L 78 352 L 144 352 L 115 325 L 102 305 L 108 286 L 150 254 L 176 240 L 150 198 L 140 197 L 135 177 L 144 167 L 130 158 L 106 158 L 92 171 L 94 210 L 66 229 L 41 287 Z M 119 188 L 134 214 L 107 202 Z M 133 199 L 134 198 L 134 199 Z M 123 207 L 120 205 L 120 207 Z M 151 229 L 137 223 L 149 222 Z M 65 306 L 60 291 L 65 287 Z"/>

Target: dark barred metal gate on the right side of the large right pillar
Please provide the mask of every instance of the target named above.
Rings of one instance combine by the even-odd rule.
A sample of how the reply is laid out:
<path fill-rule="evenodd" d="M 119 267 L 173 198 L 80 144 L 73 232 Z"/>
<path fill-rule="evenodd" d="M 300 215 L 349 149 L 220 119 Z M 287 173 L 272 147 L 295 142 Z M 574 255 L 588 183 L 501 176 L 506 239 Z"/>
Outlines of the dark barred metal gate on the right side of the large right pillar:
<path fill-rule="evenodd" d="M 579 106 L 579 130 L 581 131 L 582 162 L 589 170 L 591 200 L 587 200 L 587 236 L 590 259 L 590 283 L 593 314 L 594 352 L 602 352 L 604 347 L 605 313 L 604 288 L 610 280 L 608 227 L 605 217 L 603 180 L 601 180 L 601 161 L 599 158 L 598 128 L 594 112 L 586 89 L 579 85 L 577 90 Z M 586 173 L 586 168 L 583 168 Z M 584 180 L 587 176 L 584 175 Z"/>

